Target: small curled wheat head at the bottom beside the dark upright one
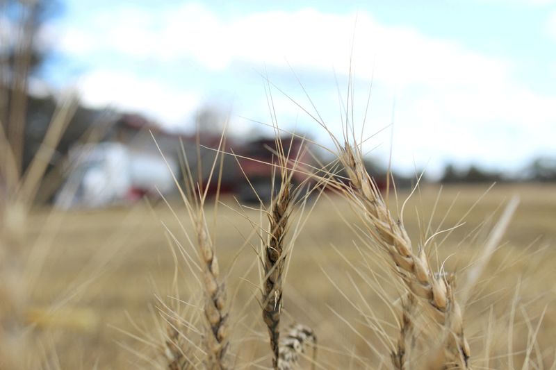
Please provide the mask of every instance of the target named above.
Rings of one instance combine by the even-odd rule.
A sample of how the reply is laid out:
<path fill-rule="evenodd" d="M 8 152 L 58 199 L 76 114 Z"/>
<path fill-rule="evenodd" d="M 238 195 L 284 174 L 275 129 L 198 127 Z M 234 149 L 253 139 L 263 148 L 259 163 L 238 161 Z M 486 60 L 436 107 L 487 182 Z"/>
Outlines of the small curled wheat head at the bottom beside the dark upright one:
<path fill-rule="evenodd" d="M 313 346 L 313 360 L 316 355 L 317 337 L 311 328 L 296 324 L 291 326 L 288 334 L 280 341 L 279 370 L 291 370 L 299 360 L 300 354 L 305 352 L 308 344 Z M 314 364 L 314 363 L 313 363 Z"/>

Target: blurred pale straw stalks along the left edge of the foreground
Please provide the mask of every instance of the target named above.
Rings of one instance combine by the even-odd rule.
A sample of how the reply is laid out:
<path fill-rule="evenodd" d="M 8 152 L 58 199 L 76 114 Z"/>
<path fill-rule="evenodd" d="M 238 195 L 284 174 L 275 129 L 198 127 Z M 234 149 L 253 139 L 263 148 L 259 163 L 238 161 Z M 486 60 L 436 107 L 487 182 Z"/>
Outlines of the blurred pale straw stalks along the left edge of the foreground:
<path fill-rule="evenodd" d="M 19 168 L 22 148 L 16 145 L 23 140 L 24 125 L 20 122 L 24 117 L 25 93 L 20 90 L 22 86 L 24 83 L 15 90 L 15 101 L 8 106 L 11 135 L 6 135 L 0 121 L 0 281 L 3 282 L 0 285 L 0 364 L 6 369 L 31 369 L 51 362 L 47 344 L 38 342 L 38 336 L 33 335 L 33 325 L 27 320 L 35 317 L 42 322 L 49 316 L 46 310 L 36 314 L 38 310 L 29 305 L 29 298 L 30 290 L 42 273 L 51 238 L 45 227 L 46 235 L 27 242 L 27 217 L 54 148 L 76 108 L 72 98 L 60 105 L 37 153 L 22 173 Z M 59 217 L 49 217 L 47 225 L 58 220 Z"/>

